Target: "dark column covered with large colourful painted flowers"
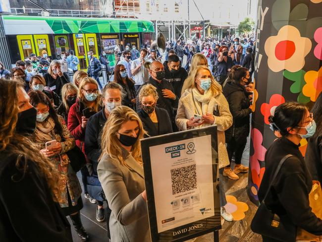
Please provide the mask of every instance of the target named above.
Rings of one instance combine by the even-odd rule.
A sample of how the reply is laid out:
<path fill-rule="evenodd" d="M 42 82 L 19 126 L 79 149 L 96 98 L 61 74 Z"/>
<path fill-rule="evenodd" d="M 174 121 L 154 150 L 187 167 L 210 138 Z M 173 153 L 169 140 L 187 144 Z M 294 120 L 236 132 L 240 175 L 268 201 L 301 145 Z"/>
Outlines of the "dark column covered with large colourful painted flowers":
<path fill-rule="evenodd" d="M 276 139 L 268 117 L 287 101 L 310 109 L 322 92 L 322 0 L 259 0 L 254 83 L 248 193 L 259 204 L 265 153 Z M 303 139 L 303 156 L 306 146 Z"/>

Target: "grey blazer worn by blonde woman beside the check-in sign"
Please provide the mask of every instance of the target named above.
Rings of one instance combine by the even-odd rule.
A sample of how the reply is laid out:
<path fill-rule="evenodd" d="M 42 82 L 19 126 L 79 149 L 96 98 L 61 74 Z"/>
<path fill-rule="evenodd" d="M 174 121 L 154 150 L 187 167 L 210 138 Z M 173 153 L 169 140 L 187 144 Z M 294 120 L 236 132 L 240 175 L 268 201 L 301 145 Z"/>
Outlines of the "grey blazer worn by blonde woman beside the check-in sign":
<path fill-rule="evenodd" d="M 128 167 L 105 155 L 97 172 L 112 213 L 109 218 L 111 242 L 151 242 L 143 168 L 125 150 Z"/>

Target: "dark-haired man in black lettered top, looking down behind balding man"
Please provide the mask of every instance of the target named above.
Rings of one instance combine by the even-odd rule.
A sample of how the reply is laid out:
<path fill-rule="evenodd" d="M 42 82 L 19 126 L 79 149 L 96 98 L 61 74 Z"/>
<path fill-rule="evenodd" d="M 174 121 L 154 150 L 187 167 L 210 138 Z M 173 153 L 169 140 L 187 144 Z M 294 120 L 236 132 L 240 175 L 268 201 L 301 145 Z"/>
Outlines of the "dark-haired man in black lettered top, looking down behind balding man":
<path fill-rule="evenodd" d="M 185 68 L 180 67 L 180 59 L 177 55 L 169 56 L 167 63 L 163 63 L 165 71 L 165 80 L 172 84 L 174 94 L 180 98 L 181 89 L 184 80 L 187 78 L 188 73 Z"/>

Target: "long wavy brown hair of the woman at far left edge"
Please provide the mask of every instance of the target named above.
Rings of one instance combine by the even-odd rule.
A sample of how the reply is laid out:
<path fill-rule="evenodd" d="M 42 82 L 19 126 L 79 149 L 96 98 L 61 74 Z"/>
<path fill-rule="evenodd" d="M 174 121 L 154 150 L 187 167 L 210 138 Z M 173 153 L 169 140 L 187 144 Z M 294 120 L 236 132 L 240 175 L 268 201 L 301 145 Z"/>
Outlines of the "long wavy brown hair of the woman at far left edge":
<path fill-rule="evenodd" d="M 17 156 L 16 168 L 22 172 L 21 181 L 28 170 L 28 165 L 37 166 L 54 194 L 58 192 L 58 173 L 54 165 L 39 152 L 39 149 L 27 137 L 16 133 L 18 120 L 18 89 L 23 85 L 15 80 L 0 80 L 0 151 Z M 16 181 L 15 176 L 12 177 Z"/>

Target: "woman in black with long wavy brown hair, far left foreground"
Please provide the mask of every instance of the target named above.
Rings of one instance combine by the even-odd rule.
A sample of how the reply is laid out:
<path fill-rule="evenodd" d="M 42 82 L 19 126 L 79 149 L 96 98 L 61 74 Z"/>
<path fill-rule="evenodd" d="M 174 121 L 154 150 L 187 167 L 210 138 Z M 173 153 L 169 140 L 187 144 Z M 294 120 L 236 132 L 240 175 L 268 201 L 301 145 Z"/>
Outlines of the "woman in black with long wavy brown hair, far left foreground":
<path fill-rule="evenodd" d="M 35 131 L 36 116 L 23 85 L 1 79 L 0 241 L 72 242 L 54 198 L 57 171 L 25 137 Z"/>

